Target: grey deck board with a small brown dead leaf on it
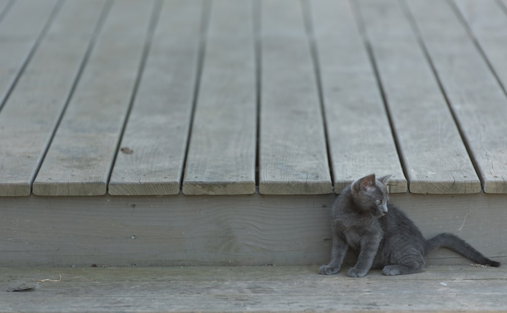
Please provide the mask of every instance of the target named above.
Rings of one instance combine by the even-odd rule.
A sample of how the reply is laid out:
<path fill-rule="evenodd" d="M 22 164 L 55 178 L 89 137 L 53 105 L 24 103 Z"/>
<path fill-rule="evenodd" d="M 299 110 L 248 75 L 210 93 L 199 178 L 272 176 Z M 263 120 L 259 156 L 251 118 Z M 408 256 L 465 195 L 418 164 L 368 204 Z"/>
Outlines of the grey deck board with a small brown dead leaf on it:
<path fill-rule="evenodd" d="M 176 194 L 198 66 L 202 2 L 165 1 L 109 182 L 110 194 Z"/>

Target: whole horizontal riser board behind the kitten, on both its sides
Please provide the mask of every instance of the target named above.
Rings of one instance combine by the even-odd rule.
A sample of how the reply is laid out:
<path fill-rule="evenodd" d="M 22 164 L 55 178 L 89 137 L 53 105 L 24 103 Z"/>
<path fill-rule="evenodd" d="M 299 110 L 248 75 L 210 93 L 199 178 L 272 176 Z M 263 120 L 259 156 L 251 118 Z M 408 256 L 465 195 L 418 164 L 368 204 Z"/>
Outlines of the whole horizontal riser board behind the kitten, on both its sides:
<path fill-rule="evenodd" d="M 503 194 L 391 194 L 427 238 L 453 232 L 503 262 Z M 335 195 L 4 197 L 0 266 L 324 264 Z M 169 208 L 169 209 L 168 209 Z M 355 262 L 351 254 L 347 264 Z M 469 264 L 447 249 L 428 264 Z"/>

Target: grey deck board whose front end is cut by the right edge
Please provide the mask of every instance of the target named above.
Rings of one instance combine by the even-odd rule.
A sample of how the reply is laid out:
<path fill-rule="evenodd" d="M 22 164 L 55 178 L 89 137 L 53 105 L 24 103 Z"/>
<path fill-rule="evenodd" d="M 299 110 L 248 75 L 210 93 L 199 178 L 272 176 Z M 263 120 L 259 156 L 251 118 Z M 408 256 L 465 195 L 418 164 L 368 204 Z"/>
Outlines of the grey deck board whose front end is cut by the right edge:
<path fill-rule="evenodd" d="M 505 93 L 448 3 L 411 0 L 408 4 L 475 161 L 484 191 L 506 193 Z"/>

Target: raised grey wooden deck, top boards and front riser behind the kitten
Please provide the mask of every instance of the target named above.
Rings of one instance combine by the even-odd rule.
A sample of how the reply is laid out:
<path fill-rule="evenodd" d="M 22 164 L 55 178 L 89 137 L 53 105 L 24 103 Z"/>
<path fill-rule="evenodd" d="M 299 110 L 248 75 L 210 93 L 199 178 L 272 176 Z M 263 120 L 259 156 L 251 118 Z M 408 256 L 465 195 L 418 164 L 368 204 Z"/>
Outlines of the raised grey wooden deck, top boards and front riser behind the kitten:
<path fill-rule="evenodd" d="M 505 261 L 505 29 L 507 0 L 0 0 L 0 266 L 321 264 L 373 172 Z"/>

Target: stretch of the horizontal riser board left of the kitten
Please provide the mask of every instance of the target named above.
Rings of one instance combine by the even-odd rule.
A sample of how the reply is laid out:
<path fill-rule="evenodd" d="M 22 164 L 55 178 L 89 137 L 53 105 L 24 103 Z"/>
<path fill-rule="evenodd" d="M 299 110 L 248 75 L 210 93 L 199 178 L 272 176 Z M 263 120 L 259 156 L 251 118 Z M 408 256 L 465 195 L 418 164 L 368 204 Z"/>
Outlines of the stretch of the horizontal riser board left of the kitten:
<path fill-rule="evenodd" d="M 313 264 L 329 256 L 333 199 L 258 193 L 6 197 L 0 264 Z"/>

